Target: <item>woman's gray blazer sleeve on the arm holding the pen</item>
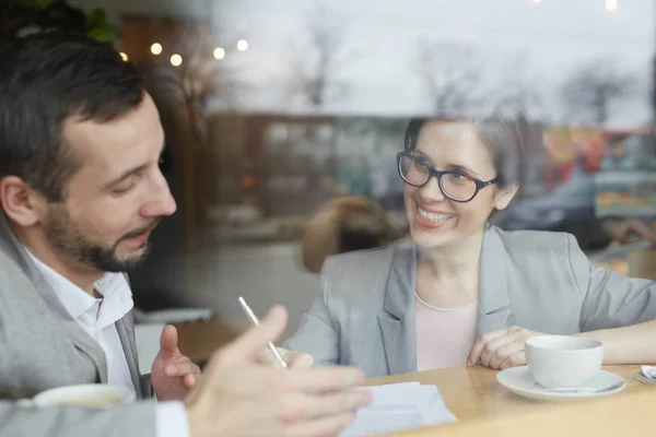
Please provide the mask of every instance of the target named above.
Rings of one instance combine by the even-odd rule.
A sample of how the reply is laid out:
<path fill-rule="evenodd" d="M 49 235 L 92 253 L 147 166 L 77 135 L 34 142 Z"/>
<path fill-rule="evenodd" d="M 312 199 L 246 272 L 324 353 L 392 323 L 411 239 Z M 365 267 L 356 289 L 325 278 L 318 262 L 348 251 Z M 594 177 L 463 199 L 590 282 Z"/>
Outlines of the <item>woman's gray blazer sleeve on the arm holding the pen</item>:
<path fill-rule="evenodd" d="M 325 263 L 326 265 L 328 263 Z M 283 347 L 305 352 L 313 356 L 316 366 L 339 363 L 339 330 L 330 316 L 328 270 L 321 272 L 321 294 L 309 311 L 303 315 L 296 333 L 283 343 Z"/>

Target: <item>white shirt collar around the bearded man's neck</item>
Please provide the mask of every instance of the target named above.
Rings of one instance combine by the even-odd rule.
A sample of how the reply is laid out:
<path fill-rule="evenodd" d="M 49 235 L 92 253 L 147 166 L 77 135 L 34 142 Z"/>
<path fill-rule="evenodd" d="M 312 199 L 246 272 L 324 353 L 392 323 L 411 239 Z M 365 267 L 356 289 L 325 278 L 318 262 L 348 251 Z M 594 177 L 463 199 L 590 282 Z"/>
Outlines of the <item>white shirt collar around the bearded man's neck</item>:
<path fill-rule="evenodd" d="M 25 250 L 74 320 L 102 329 L 116 323 L 132 309 L 132 292 L 122 273 L 105 273 L 94 283 L 96 292 L 103 296 L 99 299 L 42 262 L 27 248 Z"/>

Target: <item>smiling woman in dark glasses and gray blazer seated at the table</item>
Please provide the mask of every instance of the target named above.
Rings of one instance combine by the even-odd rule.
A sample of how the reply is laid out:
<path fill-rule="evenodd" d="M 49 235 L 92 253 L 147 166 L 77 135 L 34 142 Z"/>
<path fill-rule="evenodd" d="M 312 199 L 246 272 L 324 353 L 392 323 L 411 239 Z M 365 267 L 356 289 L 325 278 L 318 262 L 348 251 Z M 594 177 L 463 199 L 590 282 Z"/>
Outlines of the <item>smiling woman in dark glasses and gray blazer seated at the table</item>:
<path fill-rule="evenodd" d="M 519 189 L 525 137 L 504 118 L 410 121 L 398 154 L 411 238 L 329 257 L 285 346 L 368 377 L 526 363 L 540 333 L 605 342 L 607 363 L 656 359 L 656 285 L 590 267 L 565 233 L 490 225 Z M 640 340 L 636 340 L 640 339 Z"/>

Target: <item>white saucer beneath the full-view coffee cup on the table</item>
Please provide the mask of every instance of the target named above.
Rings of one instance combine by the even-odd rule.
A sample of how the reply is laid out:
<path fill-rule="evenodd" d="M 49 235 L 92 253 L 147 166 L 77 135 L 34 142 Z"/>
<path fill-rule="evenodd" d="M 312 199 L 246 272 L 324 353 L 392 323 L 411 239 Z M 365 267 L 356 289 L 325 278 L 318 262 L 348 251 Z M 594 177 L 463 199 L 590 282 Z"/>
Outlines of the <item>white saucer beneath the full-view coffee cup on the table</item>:
<path fill-rule="evenodd" d="M 600 370 L 589 381 L 585 383 L 585 388 L 602 390 L 600 392 L 558 392 L 549 391 L 534 381 L 528 374 L 528 367 L 511 367 L 505 370 L 501 370 L 496 374 L 496 380 L 511 390 L 513 393 L 518 394 L 528 399 L 536 399 L 540 401 L 553 401 L 553 400 L 573 400 L 581 398 L 594 398 L 607 394 L 617 393 L 618 391 L 624 390 L 626 382 L 624 378 L 610 371 Z M 619 387 L 617 387 L 619 385 Z M 614 387 L 614 388 L 613 388 Z M 609 390 L 605 390 L 609 388 Z"/>

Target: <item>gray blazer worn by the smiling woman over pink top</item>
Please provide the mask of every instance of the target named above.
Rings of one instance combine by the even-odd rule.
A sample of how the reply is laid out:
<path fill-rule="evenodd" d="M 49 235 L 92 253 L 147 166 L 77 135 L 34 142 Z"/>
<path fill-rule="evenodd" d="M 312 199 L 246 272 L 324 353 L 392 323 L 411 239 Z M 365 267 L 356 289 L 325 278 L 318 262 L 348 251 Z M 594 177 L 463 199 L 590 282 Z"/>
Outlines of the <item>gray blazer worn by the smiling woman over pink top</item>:
<path fill-rule="evenodd" d="M 509 326 L 574 334 L 656 318 L 654 282 L 591 267 L 569 234 L 491 226 L 480 262 L 478 335 Z M 417 371 L 415 276 L 411 241 L 328 258 L 321 294 L 284 347 L 367 377 Z"/>

